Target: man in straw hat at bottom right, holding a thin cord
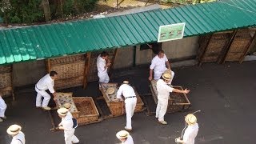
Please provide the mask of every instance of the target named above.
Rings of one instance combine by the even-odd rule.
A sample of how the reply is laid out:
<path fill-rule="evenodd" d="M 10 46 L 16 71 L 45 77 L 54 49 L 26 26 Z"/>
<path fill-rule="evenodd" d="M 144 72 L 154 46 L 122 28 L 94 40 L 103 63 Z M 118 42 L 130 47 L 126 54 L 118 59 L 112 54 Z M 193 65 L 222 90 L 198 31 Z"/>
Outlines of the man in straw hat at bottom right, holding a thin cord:
<path fill-rule="evenodd" d="M 194 138 L 198 135 L 198 123 L 194 114 L 187 114 L 185 118 L 187 128 L 185 130 L 183 140 L 176 138 L 175 141 L 183 144 L 194 144 Z"/>

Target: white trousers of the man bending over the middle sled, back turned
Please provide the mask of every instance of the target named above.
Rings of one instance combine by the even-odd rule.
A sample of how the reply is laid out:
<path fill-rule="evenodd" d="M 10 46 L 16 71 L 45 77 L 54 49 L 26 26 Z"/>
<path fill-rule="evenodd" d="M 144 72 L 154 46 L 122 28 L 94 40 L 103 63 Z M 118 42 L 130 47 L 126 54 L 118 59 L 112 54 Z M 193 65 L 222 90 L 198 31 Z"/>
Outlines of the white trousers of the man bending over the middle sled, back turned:
<path fill-rule="evenodd" d="M 137 103 L 137 98 L 126 98 L 126 127 L 132 129 L 131 118 L 134 116 L 134 110 Z"/>

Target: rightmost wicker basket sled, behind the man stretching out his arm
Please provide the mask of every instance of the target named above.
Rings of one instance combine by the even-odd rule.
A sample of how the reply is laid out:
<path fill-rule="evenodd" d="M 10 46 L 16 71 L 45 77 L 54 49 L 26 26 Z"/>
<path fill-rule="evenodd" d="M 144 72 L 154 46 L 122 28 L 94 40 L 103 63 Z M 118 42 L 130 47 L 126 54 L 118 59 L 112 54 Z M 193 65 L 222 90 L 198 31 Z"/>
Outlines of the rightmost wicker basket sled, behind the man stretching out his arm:
<path fill-rule="evenodd" d="M 152 92 L 152 96 L 154 98 L 154 102 L 158 103 L 158 91 L 157 91 L 157 81 L 152 80 L 150 82 L 150 90 Z M 175 89 L 183 90 L 182 86 L 174 86 Z M 178 111 L 189 110 L 190 108 L 190 100 L 187 98 L 186 94 L 180 93 L 170 93 L 170 97 L 168 100 L 167 113 L 174 113 Z"/>

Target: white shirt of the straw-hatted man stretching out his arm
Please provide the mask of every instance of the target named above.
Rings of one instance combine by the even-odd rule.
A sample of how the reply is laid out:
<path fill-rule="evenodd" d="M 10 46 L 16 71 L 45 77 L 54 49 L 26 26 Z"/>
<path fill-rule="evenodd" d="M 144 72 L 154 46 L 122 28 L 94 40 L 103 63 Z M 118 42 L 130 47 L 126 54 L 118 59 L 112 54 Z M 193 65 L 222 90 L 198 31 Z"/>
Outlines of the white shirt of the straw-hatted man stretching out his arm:
<path fill-rule="evenodd" d="M 162 79 L 157 82 L 158 99 L 168 99 L 174 88 L 167 85 Z"/>

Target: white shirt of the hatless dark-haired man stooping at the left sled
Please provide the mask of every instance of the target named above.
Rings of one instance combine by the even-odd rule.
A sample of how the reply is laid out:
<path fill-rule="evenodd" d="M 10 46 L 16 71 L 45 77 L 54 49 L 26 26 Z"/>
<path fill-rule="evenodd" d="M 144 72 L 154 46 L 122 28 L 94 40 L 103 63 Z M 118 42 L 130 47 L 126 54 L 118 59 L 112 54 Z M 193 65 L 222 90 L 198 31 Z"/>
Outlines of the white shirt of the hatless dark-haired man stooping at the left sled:
<path fill-rule="evenodd" d="M 39 90 L 50 90 L 50 93 L 54 93 L 54 80 L 50 78 L 50 74 L 46 74 L 44 77 L 42 77 L 38 83 L 36 84 L 36 87 Z"/>

